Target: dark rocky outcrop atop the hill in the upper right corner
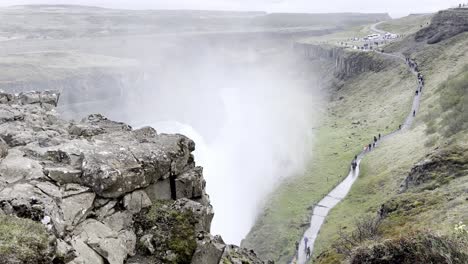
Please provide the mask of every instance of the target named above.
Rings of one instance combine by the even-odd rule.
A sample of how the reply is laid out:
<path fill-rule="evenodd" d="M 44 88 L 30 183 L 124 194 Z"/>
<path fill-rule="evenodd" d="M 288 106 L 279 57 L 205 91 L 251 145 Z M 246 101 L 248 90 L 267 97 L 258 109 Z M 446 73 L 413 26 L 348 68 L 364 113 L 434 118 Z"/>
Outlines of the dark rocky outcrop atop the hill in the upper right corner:
<path fill-rule="evenodd" d="M 468 31 L 468 8 L 455 8 L 439 11 L 431 24 L 418 31 L 416 41 L 435 44 Z"/>

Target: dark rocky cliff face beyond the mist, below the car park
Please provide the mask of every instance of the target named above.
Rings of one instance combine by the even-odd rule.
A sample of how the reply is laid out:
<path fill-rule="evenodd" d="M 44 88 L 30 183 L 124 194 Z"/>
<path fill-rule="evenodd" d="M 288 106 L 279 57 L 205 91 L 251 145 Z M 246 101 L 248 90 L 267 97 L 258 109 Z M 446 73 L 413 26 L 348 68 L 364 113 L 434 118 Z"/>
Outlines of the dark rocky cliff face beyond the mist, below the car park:
<path fill-rule="evenodd" d="M 328 45 L 296 43 L 295 50 L 309 59 L 334 61 L 335 75 L 342 79 L 369 71 L 379 72 L 388 63 L 373 52 L 355 52 Z"/>

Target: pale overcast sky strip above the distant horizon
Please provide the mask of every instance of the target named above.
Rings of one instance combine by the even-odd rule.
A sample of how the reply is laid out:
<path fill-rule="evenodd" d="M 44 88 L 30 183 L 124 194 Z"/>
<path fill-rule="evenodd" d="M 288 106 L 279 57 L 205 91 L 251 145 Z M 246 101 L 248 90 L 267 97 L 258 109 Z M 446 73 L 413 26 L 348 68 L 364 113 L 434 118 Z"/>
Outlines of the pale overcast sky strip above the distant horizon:
<path fill-rule="evenodd" d="M 126 9 L 259 10 L 267 12 L 385 12 L 394 17 L 428 13 L 468 0 L 0 0 L 20 4 L 81 4 Z"/>

